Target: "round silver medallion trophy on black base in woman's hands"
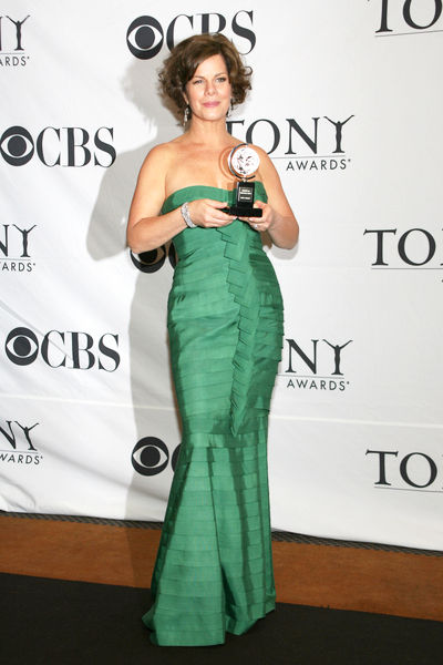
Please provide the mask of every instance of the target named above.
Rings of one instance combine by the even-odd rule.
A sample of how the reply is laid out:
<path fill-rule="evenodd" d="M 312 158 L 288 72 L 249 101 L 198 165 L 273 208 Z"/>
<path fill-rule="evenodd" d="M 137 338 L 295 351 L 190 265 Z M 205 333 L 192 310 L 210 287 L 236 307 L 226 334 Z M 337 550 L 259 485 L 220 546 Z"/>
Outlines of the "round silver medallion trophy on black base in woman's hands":
<path fill-rule="evenodd" d="M 228 157 L 229 171 L 239 182 L 236 187 L 236 203 L 226 212 L 236 217 L 261 217 L 262 209 L 254 207 L 256 184 L 250 182 L 255 176 L 260 157 L 247 143 L 240 143 L 230 151 Z"/>

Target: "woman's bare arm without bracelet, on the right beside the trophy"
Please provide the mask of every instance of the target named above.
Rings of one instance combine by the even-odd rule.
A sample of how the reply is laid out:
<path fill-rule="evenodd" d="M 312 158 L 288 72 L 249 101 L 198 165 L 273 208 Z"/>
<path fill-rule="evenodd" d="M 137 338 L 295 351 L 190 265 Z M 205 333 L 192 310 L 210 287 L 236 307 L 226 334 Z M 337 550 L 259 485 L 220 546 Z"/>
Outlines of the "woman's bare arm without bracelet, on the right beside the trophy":
<path fill-rule="evenodd" d="M 291 249 L 298 241 L 299 227 L 292 209 L 281 186 L 280 177 L 268 154 L 260 147 L 254 146 L 260 155 L 259 180 L 265 185 L 268 203 L 256 201 L 255 206 L 262 208 L 262 217 L 247 219 L 248 224 L 258 231 L 267 231 L 277 247 Z"/>

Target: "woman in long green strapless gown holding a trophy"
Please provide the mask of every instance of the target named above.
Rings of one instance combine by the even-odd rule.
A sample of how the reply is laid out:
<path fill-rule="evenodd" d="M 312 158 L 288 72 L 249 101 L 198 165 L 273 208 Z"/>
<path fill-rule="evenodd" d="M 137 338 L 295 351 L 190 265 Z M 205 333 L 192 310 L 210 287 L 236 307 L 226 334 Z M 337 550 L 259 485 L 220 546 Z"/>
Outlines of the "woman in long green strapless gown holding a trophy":
<path fill-rule="evenodd" d="M 143 616 L 159 645 L 210 645 L 275 607 L 267 475 L 270 395 L 281 355 L 282 303 L 259 232 L 292 247 L 298 225 L 259 147 L 255 206 L 235 218 L 227 165 L 240 143 L 226 130 L 250 71 L 225 37 L 181 42 L 159 74 L 187 129 L 147 155 L 127 243 L 171 238 L 179 257 L 168 331 L 183 439 Z"/>

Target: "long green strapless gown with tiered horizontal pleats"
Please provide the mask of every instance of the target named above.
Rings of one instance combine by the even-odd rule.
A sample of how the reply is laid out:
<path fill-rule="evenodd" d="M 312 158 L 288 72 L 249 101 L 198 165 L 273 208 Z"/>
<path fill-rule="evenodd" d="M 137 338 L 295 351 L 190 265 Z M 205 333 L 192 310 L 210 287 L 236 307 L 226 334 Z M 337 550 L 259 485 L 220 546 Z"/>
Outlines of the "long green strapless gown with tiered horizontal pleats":
<path fill-rule="evenodd" d="M 162 213 L 234 196 L 185 187 Z M 256 198 L 267 200 L 261 183 Z M 168 331 L 183 439 L 143 622 L 154 644 L 203 646 L 245 633 L 275 607 L 267 429 L 282 301 L 248 224 L 186 228 L 174 245 Z"/>

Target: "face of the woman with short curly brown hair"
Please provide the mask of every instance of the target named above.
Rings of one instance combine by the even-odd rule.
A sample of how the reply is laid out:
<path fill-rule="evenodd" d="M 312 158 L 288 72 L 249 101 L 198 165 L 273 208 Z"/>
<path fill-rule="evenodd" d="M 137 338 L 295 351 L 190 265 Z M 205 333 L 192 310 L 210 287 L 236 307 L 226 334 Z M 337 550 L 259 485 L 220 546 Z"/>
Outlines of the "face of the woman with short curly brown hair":
<path fill-rule="evenodd" d="M 217 53 L 204 60 L 186 83 L 185 100 L 194 117 L 225 119 L 229 110 L 231 88 L 223 55 Z"/>

